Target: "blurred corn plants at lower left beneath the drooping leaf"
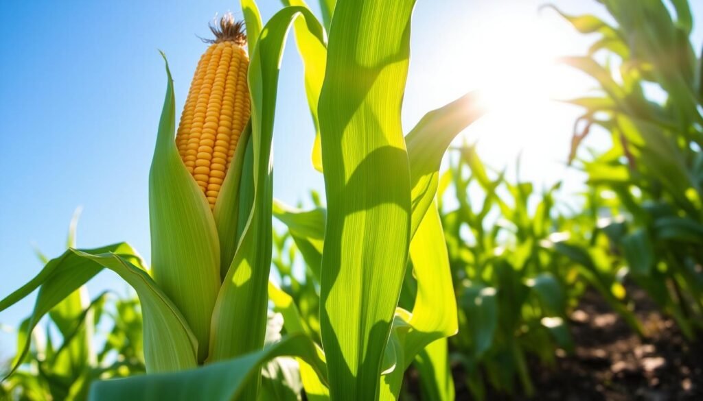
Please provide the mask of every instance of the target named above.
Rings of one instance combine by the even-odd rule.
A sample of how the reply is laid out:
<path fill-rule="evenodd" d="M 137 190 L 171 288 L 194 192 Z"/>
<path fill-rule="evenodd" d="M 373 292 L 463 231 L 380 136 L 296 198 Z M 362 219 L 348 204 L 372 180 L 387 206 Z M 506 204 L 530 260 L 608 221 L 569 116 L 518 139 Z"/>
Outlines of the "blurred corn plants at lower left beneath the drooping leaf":
<path fill-rule="evenodd" d="M 79 210 L 70 225 L 69 247 L 75 247 L 78 216 Z M 40 251 L 37 256 L 49 263 Z M 93 381 L 145 370 L 136 299 L 108 291 L 91 299 L 80 286 L 43 321 L 33 319 L 27 317 L 16 330 L 17 354 L 11 363 L 19 369 L 0 385 L 4 400 L 86 400 Z"/>

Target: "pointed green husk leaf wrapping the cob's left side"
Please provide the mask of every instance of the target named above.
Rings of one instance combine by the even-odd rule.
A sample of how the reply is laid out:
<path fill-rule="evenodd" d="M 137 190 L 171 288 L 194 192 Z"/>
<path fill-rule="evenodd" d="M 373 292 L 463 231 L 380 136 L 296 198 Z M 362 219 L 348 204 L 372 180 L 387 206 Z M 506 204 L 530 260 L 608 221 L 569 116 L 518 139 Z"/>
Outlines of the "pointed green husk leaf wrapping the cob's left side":
<path fill-rule="evenodd" d="M 165 58 L 164 58 L 165 59 Z M 168 77 L 156 149 L 149 173 L 152 275 L 186 317 L 205 360 L 210 316 L 220 287 L 220 251 L 212 211 L 186 170 L 174 140 L 175 100 Z"/>

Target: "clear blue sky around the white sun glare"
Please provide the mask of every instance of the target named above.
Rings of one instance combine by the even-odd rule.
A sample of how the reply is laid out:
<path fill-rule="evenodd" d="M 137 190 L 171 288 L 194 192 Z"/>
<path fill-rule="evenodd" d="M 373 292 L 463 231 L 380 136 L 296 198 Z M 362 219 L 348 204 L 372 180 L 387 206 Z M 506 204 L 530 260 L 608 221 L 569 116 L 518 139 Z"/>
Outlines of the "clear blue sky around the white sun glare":
<path fill-rule="evenodd" d="M 264 20 L 280 8 L 278 1 L 259 3 Z M 472 71 L 491 63 L 474 51 L 490 40 L 486 32 L 499 27 L 520 37 L 521 32 L 511 32 L 511 21 L 541 23 L 536 15 L 543 3 L 418 0 L 403 112 L 406 131 L 424 112 L 477 85 Z M 574 13 L 601 13 L 595 1 L 557 4 Z M 702 15 L 701 5 L 696 7 Z M 79 246 L 127 241 L 148 260 L 148 169 L 166 84 L 157 49 L 169 58 L 180 110 L 205 50 L 196 35 L 208 37 L 207 23 L 226 11 L 241 16 L 234 0 L 0 3 L 0 297 L 41 268 L 32 243 L 52 257 L 64 250 L 67 225 L 79 205 L 84 207 Z M 561 27 L 555 35 L 568 37 L 572 53 L 582 53 L 591 39 Z M 279 87 L 274 192 L 294 204 L 309 189 L 322 190 L 323 180 L 309 164 L 313 128 L 293 40 Z M 578 115 L 574 109 L 562 111 L 560 125 L 550 128 L 557 138 L 548 146 L 551 162 L 565 155 Z M 524 128 L 524 136 L 542 129 Z M 96 294 L 105 287 L 125 288 L 109 272 L 89 288 Z M 30 296 L 1 313 L 0 322 L 17 324 L 33 302 Z M 13 341 L 0 335 L 0 358 Z"/>

